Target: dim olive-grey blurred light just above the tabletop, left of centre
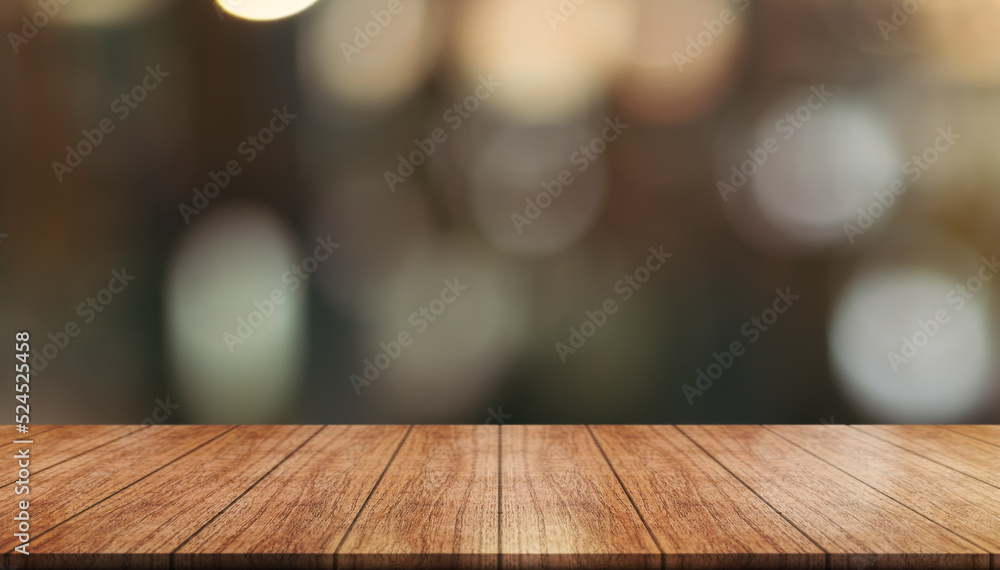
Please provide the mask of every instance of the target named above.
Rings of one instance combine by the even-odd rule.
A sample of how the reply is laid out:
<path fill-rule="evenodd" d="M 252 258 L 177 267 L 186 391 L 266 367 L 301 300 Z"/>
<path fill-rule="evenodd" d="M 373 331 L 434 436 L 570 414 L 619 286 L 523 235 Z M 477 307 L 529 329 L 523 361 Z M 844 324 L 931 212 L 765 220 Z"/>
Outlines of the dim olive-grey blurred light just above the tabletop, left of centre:
<path fill-rule="evenodd" d="M 468 238 L 451 238 L 409 260 L 363 336 L 364 358 L 386 363 L 363 395 L 419 421 L 479 409 L 516 358 L 527 304 L 519 268 Z M 403 333 L 409 345 L 396 351 L 390 343 Z M 383 343 L 397 356 L 378 356 Z"/>

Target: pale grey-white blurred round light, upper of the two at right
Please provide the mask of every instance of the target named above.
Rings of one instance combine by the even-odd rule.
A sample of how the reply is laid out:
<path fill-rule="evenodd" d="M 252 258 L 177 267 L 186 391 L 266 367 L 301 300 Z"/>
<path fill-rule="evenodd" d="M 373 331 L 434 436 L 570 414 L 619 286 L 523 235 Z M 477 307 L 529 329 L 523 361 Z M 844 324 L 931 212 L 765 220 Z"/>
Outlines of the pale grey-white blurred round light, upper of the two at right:
<path fill-rule="evenodd" d="M 826 103 L 807 90 L 767 113 L 754 146 L 723 173 L 729 183 L 747 179 L 768 223 L 808 247 L 846 242 L 844 224 L 857 221 L 858 208 L 878 203 L 882 218 L 901 199 L 891 190 L 902 184 L 903 159 L 890 127 L 868 104 L 824 89 L 834 93 Z M 876 192 L 892 200 L 885 206 Z"/>

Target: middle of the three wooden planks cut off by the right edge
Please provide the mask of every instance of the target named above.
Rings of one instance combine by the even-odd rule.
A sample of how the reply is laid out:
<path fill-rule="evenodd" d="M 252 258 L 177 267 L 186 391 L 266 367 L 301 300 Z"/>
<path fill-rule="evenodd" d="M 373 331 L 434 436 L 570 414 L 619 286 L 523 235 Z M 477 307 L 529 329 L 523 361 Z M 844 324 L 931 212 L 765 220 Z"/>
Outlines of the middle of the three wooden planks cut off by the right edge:
<path fill-rule="evenodd" d="M 1000 488 L 1000 449 L 995 445 L 938 426 L 851 427 Z"/>

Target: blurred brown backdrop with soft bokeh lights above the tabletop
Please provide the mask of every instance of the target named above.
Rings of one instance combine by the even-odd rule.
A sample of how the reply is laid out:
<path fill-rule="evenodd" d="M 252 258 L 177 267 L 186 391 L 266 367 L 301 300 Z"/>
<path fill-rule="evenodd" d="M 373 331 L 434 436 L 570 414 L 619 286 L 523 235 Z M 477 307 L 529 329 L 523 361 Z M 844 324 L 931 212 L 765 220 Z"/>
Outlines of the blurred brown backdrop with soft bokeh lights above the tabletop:
<path fill-rule="evenodd" d="M 1000 3 L 11 0 L 0 31 L 35 423 L 1000 422 Z"/>

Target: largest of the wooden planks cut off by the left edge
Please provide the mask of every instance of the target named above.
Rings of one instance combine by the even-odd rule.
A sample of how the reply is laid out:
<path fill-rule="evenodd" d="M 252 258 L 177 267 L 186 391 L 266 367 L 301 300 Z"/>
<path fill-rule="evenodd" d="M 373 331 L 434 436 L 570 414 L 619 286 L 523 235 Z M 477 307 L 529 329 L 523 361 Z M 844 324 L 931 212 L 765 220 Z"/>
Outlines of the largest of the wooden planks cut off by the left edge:
<path fill-rule="evenodd" d="M 31 477 L 31 533 L 38 536 L 229 429 L 227 426 L 153 426 L 91 450 Z M 8 504 L 12 520 L 16 501 Z M 0 535 L 0 552 L 19 541 Z"/>

